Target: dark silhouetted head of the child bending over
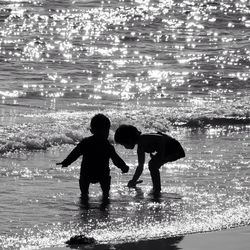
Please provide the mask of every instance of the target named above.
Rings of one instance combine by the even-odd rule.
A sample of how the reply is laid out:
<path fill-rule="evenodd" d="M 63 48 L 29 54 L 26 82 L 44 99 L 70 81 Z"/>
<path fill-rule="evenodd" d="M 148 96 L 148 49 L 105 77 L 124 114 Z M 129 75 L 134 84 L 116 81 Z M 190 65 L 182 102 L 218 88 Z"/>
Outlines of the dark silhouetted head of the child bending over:
<path fill-rule="evenodd" d="M 141 132 L 132 125 L 121 125 L 115 132 L 115 141 L 125 148 L 133 149 Z"/>

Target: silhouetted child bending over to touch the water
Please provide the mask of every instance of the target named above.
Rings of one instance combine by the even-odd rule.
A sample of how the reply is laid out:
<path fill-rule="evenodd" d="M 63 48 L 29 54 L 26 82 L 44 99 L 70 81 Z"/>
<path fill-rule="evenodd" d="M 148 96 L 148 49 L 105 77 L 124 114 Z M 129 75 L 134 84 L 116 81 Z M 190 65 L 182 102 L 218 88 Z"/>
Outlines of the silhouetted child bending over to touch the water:
<path fill-rule="evenodd" d="M 133 149 L 137 144 L 138 167 L 135 170 L 128 187 L 135 187 L 142 174 L 145 162 L 145 153 L 151 156 L 148 167 L 153 183 L 153 193 L 161 191 L 160 167 L 167 163 L 185 157 L 180 143 L 163 133 L 142 134 L 132 125 L 121 125 L 115 132 L 115 141 L 127 149 Z"/>

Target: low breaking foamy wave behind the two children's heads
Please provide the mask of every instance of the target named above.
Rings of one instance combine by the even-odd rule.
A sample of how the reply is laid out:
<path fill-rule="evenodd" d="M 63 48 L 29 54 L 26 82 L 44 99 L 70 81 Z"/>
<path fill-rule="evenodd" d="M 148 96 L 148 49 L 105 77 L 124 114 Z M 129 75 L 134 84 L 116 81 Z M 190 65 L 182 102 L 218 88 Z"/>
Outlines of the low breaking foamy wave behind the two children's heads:
<path fill-rule="evenodd" d="M 42 111 L 43 112 L 43 111 Z M 64 144 L 75 145 L 84 136 L 90 135 L 88 128 L 91 117 L 99 113 L 99 110 L 88 110 L 80 112 L 50 112 L 25 114 L 21 116 L 18 124 L 8 124 L 0 129 L 0 154 L 8 154 L 15 151 L 46 150 L 52 146 Z M 195 112 L 195 111 L 194 111 Z M 144 109 L 124 109 L 105 110 L 111 120 L 110 140 L 113 141 L 113 134 L 116 128 L 123 124 L 135 125 L 142 132 L 161 131 L 170 133 L 171 131 L 190 129 L 209 129 L 219 127 L 239 126 L 249 129 L 250 118 L 245 116 L 198 116 L 181 113 L 176 108 L 144 108 Z M 17 120 L 15 119 L 15 122 Z"/>

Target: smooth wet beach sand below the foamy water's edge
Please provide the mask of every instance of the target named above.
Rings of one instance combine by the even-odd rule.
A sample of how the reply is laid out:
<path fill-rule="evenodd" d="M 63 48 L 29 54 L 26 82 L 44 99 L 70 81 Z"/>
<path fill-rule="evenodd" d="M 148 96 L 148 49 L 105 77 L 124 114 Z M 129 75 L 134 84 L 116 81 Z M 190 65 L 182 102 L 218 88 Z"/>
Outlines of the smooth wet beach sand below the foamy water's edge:
<path fill-rule="evenodd" d="M 248 250 L 250 248 L 250 226 L 217 232 L 191 234 L 175 238 L 141 241 L 118 245 L 82 247 L 54 247 L 43 250 Z"/>

